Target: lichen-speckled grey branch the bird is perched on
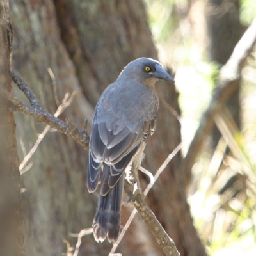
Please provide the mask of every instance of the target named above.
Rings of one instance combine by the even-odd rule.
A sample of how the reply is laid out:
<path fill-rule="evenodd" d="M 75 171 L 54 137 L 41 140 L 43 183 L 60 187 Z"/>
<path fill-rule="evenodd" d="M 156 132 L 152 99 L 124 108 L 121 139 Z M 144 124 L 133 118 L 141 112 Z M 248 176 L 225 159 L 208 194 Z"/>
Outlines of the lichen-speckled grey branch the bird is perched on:
<path fill-rule="evenodd" d="M 19 111 L 26 115 L 33 116 L 41 122 L 56 129 L 57 131 L 64 133 L 67 136 L 70 136 L 80 145 L 82 145 L 86 150 L 89 149 L 90 137 L 86 132 L 87 122 L 84 122 L 84 129 L 79 130 L 70 122 L 70 120 L 68 120 L 68 118 L 66 119 L 66 122 L 64 122 L 63 120 L 56 118 L 50 113 L 47 113 L 47 111 L 45 111 L 44 108 L 42 108 L 42 106 L 39 104 L 38 99 L 36 99 L 35 94 L 28 87 L 28 84 L 26 84 L 19 76 L 14 73 L 12 74 L 12 79 L 15 83 L 17 83 L 20 90 L 24 92 L 31 104 L 31 106 L 24 104 L 19 99 L 17 99 L 17 97 L 14 97 L 11 93 L 4 90 L 4 88 L 0 86 L 0 95 L 12 102 L 12 104 L 14 105 L 14 108 L 12 108 L 13 111 Z M 125 193 L 130 196 L 132 195 L 133 190 L 133 186 L 129 184 L 129 182 L 127 182 L 127 180 L 125 179 Z M 165 230 L 157 220 L 154 213 L 148 207 L 147 203 L 145 202 L 144 196 L 138 193 L 132 197 L 131 201 L 134 207 L 139 212 L 142 220 L 147 224 L 152 234 L 154 234 L 154 236 L 156 237 L 157 242 L 163 248 L 164 253 L 166 255 L 179 256 L 179 252 L 177 251 L 173 240 L 168 236 L 168 234 L 165 232 Z"/>

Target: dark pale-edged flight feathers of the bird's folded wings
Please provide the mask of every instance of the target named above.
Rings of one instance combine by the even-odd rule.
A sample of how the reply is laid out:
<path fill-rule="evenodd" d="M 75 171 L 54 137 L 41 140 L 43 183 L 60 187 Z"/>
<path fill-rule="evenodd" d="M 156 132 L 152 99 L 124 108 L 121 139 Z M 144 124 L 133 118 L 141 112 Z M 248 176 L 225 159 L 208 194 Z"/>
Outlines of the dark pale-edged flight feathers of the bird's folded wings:
<path fill-rule="evenodd" d="M 107 124 L 93 124 L 90 138 L 90 167 L 88 168 L 88 183 L 91 191 L 95 191 L 99 183 L 100 168 L 97 162 L 104 162 L 104 172 L 101 180 L 101 195 L 106 195 L 120 179 L 122 171 L 131 162 L 143 138 L 143 132 L 137 134 L 127 127 L 118 134 L 108 131 Z M 96 168 L 95 168 L 96 167 Z M 107 172 L 108 170 L 108 172 Z M 90 175 L 90 176 L 89 176 Z M 89 188 L 88 186 L 88 188 Z"/>

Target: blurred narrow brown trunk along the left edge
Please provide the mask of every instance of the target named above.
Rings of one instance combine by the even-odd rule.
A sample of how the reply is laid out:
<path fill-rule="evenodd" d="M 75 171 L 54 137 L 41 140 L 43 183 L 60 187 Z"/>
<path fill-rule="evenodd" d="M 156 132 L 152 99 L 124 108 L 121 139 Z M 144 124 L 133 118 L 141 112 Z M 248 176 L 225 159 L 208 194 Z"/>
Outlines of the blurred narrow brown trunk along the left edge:
<path fill-rule="evenodd" d="M 0 1 L 0 86 L 12 92 L 12 24 L 8 1 Z M 24 236 L 20 207 L 15 122 L 10 102 L 0 98 L 0 255 L 23 256 Z"/>

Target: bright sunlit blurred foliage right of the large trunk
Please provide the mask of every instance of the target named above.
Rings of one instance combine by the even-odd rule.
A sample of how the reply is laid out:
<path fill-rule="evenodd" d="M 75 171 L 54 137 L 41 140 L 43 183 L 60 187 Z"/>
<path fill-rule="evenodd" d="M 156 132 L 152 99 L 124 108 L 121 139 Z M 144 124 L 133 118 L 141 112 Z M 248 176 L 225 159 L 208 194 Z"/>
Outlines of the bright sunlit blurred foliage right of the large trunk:
<path fill-rule="evenodd" d="M 256 1 L 241 0 L 240 20 L 256 17 Z M 208 60 L 205 0 L 145 0 L 159 58 L 175 69 L 182 110 L 183 152 L 211 100 L 220 67 Z M 188 191 L 195 226 L 212 256 L 256 255 L 256 53 L 243 68 L 242 131 L 232 120 L 215 152 L 205 138 Z M 171 104 L 171 103 L 170 103 Z M 221 118 L 221 117 L 220 117 Z M 230 145 L 232 143 L 232 145 Z M 226 148 L 230 153 L 226 154 Z"/>

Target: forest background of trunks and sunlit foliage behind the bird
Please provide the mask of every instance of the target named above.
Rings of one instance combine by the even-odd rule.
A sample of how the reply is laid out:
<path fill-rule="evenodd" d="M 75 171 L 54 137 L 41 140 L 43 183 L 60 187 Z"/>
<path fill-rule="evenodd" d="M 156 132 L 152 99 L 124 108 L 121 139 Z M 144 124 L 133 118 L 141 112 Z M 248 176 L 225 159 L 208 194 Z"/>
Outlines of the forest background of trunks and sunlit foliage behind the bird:
<path fill-rule="evenodd" d="M 235 79 L 221 76 L 256 16 L 254 0 L 0 3 L 1 86 L 29 105 L 11 88 L 12 67 L 46 111 L 79 129 L 87 118 L 89 134 L 95 104 L 122 68 L 141 56 L 160 60 L 175 86 L 157 84 L 161 106 L 143 167 L 154 175 L 181 150 L 146 201 L 181 255 L 256 253 L 255 49 Z M 214 115 L 203 114 L 212 106 Z M 111 244 L 77 238 L 97 204 L 86 188 L 86 150 L 6 100 L 0 112 L 0 255 L 108 255 Z M 141 173 L 143 189 L 149 182 Z M 123 207 L 123 225 L 131 212 Z M 163 255 L 138 214 L 116 253 Z"/>

